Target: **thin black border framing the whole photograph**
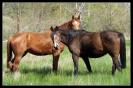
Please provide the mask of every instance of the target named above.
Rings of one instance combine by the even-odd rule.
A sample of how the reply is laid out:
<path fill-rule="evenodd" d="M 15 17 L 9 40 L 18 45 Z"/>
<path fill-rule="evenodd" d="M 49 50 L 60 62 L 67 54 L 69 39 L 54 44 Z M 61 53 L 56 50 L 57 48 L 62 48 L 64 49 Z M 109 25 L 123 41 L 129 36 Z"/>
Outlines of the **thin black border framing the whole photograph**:
<path fill-rule="evenodd" d="M 34 0 L 33 2 L 42 2 L 41 0 Z M 56 2 L 56 0 L 45 0 L 45 2 L 51 2 L 52 1 L 52 3 L 53 2 Z M 62 1 L 64 1 L 64 0 L 57 0 L 58 1 L 58 3 L 60 2 L 60 3 L 62 3 Z M 3 35 L 2 35 L 2 3 L 3 2 L 27 2 L 26 0 L 24 1 L 24 0 L 12 0 L 12 1 L 8 1 L 8 0 L 5 0 L 5 1 L 2 1 L 1 2 L 1 32 L 0 32 L 0 35 L 1 35 L 1 58 L 0 58 L 0 62 L 1 62 L 1 79 L 3 80 L 3 78 L 2 78 L 2 37 L 3 37 Z M 32 1 L 29 1 L 29 2 L 32 2 Z M 45 3 L 44 2 L 44 3 Z M 69 0 L 66 0 L 65 2 L 70 2 Z M 78 1 L 73 1 L 73 2 L 130 2 L 130 18 L 131 18 L 131 20 L 132 20 L 132 15 L 131 15 L 131 8 L 132 8 L 132 5 L 131 5 L 131 1 L 130 0 L 121 0 L 121 1 L 119 1 L 119 0 L 114 0 L 114 1 L 112 1 L 112 0 L 97 0 L 97 1 L 94 1 L 94 0 L 88 0 L 88 1 L 86 1 L 86 0 L 78 0 Z M 131 22 L 132 23 L 132 22 Z M 132 26 L 132 24 L 131 24 L 131 26 Z M 130 27 L 131 28 L 131 27 Z M 132 33 L 132 28 L 130 29 L 130 32 Z M 131 34 L 130 34 L 131 35 Z M 130 39 L 132 39 L 132 35 L 130 36 Z M 130 40 L 131 41 L 131 40 Z M 132 45 L 132 43 L 131 43 L 131 45 Z M 131 48 L 130 48 L 130 53 L 131 53 Z M 130 57 L 131 57 L 131 55 L 132 54 L 130 54 Z M 131 58 L 132 59 L 132 58 Z M 133 71 L 132 71 L 132 65 L 133 65 L 133 63 L 132 63 L 132 60 L 130 60 L 130 65 L 131 65 L 131 85 L 130 86 L 123 86 L 123 87 L 132 87 L 132 74 L 133 74 Z M 1 85 L 2 85 L 2 80 L 1 80 Z M 2 85 L 3 86 L 3 85 Z M 20 85 L 21 86 L 21 85 Z M 22 86 L 25 86 L 25 85 L 22 85 Z M 36 85 L 32 85 L 32 86 L 36 86 Z M 45 86 L 45 85 L 44 85 Z M 47 85 L 46 85 L 47 86 Z M 55 85 L 52 85 L 52 86 L 55 86 Z M 66 85 L 67 86 L 67 85 Z M 76 85 L 71 85 L 71 86 L 76 86 Z M 80 86 L 80 85 L 78 85 L 78 86 Z M 86 85 L 85 85 L 86 86 Z M 89 86 L 89 85 L 88 85 Z M 102 87 L 102 85 L 100 85 L 101 87 Z M 117 87 L 117 86 L 113 86 L 113 85 L 111 85 L 112 87 Z M 90 86 L 90 87 L 93 87 L 93 86 Z M 95 87 L 97 87 L 97 86 L 95 86 Z M 109 86 L 103 86 L 103 87 L 109 87 Z M 122 87 L 122 86 L 120 86 L 120 87 Z M 133 87 L 132 87 L 133 88 Z"/>

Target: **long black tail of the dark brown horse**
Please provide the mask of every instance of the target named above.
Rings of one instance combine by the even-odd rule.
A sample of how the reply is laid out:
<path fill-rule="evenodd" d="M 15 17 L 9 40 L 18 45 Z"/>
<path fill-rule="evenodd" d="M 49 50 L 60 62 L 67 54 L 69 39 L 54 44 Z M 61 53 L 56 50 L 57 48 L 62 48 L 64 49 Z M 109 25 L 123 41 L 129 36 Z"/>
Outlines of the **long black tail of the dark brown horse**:
<path fill-rule="evenodd" d="M 120 34 L 120 62 L 121 67 L 126 68 L 126 46 L 123 34 Z"/>

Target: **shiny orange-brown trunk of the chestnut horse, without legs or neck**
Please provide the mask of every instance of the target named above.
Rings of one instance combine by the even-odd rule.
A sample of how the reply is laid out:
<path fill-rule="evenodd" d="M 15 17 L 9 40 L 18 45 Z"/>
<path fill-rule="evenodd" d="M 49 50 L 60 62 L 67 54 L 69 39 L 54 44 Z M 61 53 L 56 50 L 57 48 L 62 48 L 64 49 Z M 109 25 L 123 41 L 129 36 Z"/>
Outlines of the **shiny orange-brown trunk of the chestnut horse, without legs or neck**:
<path fill-rule="evenodd" d="M 50 36 L 51 30 L 44 32 L 19 32 L 11 38 L 12 48 L 14 48 L 15 52 L 28 51 L 35 55 L 52 54 L 54 51 L 52 51 L 53 42 Z M 62 46 L 58 50 L 59 52 L 63 50 L 64 45 Z"/>

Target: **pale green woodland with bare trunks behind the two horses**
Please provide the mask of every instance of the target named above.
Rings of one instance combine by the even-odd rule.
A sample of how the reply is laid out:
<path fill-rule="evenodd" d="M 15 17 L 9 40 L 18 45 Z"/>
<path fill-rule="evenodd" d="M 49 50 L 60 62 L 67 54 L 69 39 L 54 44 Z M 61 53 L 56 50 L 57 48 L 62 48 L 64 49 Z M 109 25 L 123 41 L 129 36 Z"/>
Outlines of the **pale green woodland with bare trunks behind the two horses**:
<path fill-rule="evenodd" d="M 87 31 L 110 28 L 130 38 L 130 3 L 3 3 L 3 40 L 16 32 L 41 32 L 61 25 L 80 11 L 81 27 Z"/>

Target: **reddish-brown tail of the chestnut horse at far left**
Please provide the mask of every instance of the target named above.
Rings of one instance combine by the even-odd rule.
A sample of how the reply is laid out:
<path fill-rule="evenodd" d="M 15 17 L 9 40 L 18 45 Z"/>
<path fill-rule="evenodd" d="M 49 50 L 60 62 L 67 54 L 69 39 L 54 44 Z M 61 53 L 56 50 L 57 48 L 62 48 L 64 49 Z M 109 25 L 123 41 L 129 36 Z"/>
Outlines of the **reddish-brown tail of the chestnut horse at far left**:
<path fill-rule="evenodd" d="M 11 47 L 11 38 L 7 41 L 7 68 L 11 66 L 12 58 L 12 47 Z"/>

